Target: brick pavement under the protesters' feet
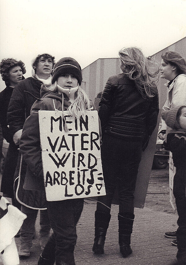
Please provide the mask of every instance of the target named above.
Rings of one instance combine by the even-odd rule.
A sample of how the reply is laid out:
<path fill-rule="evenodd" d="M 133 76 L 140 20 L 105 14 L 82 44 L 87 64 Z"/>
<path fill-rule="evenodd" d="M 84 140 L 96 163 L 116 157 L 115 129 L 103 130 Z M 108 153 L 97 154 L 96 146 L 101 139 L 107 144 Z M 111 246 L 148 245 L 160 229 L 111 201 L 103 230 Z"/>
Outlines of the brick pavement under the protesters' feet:
<path fill-rule="evenodd" d="M 133 253 L 127 258 L 122 258 L 118 246 L 118 205 L 112 206 L 112 217 L 104 248 L 105 254 L 96 256 L 92 253 L 95 208 L 95 202 L 85 201 L 82 217 L 77 225 L 76 265 L 168 265 L 175 260 L 177 248 L 171 245 L 171 239 L 164 237 L 163 233 L 177 229 L 177 214 L 157 212 L 148 208 L 135 208 L 135 221 L 131 237 Z M 20 265 L 37 265 L 41 253 L 38 239 L 39 217 L 36 221 L 36 231 L 37 238 L 33 240 L 31 256 L 20 259 Z M 16 239 L 16 244 L 19 247 L 20 239 Z"/>

